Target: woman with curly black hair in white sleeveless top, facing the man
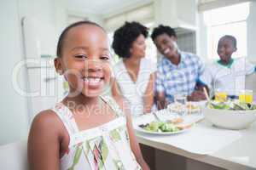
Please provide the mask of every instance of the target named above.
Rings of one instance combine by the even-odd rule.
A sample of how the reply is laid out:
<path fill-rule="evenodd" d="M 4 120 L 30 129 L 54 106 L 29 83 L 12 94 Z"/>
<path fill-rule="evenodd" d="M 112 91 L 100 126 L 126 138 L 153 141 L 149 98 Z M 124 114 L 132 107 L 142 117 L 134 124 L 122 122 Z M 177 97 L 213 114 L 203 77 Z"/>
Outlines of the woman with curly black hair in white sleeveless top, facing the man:
<path fill-rule="evenodd" d="M 112 47 L 121 59 L 113 68 L 112 94 L 128 101 L 133 116 L 150 112 L 154 104 L 156 65 L 145 59 L 146 37 L 148 28 L 138 22 L 125 22 L 113 35 Z"/>

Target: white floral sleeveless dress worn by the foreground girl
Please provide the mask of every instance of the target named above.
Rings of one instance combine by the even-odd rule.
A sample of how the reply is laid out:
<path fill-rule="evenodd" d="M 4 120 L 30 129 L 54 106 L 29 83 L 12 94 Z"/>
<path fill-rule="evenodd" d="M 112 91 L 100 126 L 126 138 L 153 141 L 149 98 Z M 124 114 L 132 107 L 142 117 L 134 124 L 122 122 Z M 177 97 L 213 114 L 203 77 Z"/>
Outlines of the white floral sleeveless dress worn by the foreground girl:
<path fill-rule="evenodd" d="M 70 137 L 68 150 L 61 157 L 61 170 L 142 170 L 131 151 L 123 111 L 112 98 L 102 100 L 113 109 L 116 118 L 84 131 L 79 131 L 67 106 L 57 103 L 52 109 Z"/>

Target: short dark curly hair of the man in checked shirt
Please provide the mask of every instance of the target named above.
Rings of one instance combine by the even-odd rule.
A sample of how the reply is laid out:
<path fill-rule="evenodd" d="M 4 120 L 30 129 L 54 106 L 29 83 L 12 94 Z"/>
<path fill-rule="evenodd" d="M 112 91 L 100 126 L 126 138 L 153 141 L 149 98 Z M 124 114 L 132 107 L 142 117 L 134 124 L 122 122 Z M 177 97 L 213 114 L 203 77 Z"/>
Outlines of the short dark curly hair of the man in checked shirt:
<path fill-rule="evenodd" d="M 158 27 L 155 27 L 152 34 L 151 38 L 154 41 L 154 39 L 162 34 L 166 33 L 169 37 L 177 37 L 176 32 L 171 26 L 163 26 L 159 25 Z"/>

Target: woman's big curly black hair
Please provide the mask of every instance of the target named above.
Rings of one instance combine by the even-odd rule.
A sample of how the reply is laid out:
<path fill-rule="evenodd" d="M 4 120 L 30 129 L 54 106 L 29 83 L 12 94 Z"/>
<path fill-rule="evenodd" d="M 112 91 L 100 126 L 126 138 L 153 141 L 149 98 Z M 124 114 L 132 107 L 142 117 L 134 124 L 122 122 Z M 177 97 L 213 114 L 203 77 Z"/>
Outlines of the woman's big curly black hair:
<path fill-rule="evenodd" d="M 125 22 L 118 30 L 114 31 L 112 48 L 120 58 L 129 58 L 130 48 L 140 35 L 148 37 L 148 28 L 138 22 Z"/>

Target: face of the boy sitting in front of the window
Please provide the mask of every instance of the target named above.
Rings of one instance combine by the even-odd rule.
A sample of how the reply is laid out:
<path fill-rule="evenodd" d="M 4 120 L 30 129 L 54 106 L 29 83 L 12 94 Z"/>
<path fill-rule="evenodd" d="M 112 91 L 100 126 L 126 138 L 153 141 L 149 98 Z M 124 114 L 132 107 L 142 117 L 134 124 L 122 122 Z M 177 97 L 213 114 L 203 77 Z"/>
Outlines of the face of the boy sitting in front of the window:
<path fill-rule="evenodd" d="M 234 43 L 230 38 L 221 38 L 218 41 L 218 56 L 224 61 L 224 63 L 228 63 L 230 61 L 231 55 L 236 52 L 236 47 L 234 47 Z"/>

